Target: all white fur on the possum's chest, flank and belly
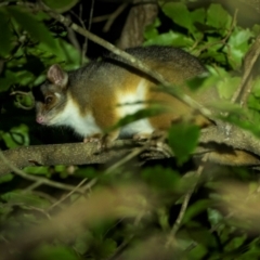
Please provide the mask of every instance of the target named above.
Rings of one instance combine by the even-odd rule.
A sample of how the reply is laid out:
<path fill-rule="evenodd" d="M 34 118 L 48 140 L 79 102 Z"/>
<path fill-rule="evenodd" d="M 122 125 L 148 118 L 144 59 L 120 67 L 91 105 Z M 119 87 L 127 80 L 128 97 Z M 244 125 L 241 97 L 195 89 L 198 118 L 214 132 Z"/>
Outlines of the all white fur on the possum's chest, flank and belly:
<path fill-rule="evenodd" d="M 126 93 L 126 91 L 118 91 L 117 105 L 115 104 L 118 118 L 123 118 L 127 115 L 132 115 L 138 110 L 145 108 L 144 101 L 146 91 L 146 81 L 144 79 L 140 80 L 134 92 Z M 107 118 L 107 120 L 109 120 L 109 118 Z M 98 126 L 91 112 L 87 115 L 81 115 L 78 106 L 72 99 L 67 100 L 63 112 L 52 119 L 52 125 L 70 127 L 82 138 L 88 138 L 96 133 L 102 134 L 103 130 L 105 130 Z M 150 121 L 144 118 L 121 127 L 119 136 L 131 138 L 133 134 L 151 134 L 153 131 L 154 128 L 151 126 Z"/>

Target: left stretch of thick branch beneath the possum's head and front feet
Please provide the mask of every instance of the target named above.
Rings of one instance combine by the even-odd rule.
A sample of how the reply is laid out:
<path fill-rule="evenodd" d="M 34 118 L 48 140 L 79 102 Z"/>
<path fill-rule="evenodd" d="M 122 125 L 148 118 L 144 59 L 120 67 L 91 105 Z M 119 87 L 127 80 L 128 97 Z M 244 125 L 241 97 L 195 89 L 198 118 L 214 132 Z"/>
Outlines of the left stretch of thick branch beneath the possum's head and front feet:
<path fill-rule="evenodd" d="M 120 145 L 120 141 L 117 145 Z M 3 152 L 10 164 L 17 168 L 26 166 L 92 165 L 104 164 L 129 152 L 129 147 L 99 153 L 94 143 L 66 143 L 52 145 L 31 145 Z M 10 167 L 1 161 L 0 176 L 10 172 Z"/>

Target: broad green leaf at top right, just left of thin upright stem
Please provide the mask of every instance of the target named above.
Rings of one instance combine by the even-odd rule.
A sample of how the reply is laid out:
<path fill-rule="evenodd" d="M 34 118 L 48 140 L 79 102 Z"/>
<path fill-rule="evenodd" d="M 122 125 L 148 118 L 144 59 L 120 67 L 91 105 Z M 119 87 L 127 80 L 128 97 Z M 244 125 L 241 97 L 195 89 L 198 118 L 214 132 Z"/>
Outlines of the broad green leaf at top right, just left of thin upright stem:
<path fill-rule="evenodd" d="M 207 10 L 207 25 L 218 29 L 218 32 L 224 36 L 230 29 L 231 23 L 231 15 L 222 8 L 221 4 L 210 4 L 209 9 Z"/>

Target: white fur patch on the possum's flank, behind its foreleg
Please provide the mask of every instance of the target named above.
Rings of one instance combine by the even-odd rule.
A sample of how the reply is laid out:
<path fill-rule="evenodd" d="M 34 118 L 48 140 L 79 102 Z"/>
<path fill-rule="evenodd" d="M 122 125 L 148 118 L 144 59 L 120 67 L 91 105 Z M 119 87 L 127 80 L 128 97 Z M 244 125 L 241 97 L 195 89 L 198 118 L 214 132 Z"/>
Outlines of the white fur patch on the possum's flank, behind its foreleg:
<path fill-rule="evenodd" d="M 132 115 L 140 109 L 145 108 L 145 99 L 147 91 L 147 81 L 141 79 L 136 91 L 132 93 L 121 92 L 118 94 L 117 113 L 120 118 L 127 115 Z M 120 136 L 132 136 L 135 133 L 153 133 L 154 128 L 151 126 L 147 118 L 131 122 L 120 129 Z"/>

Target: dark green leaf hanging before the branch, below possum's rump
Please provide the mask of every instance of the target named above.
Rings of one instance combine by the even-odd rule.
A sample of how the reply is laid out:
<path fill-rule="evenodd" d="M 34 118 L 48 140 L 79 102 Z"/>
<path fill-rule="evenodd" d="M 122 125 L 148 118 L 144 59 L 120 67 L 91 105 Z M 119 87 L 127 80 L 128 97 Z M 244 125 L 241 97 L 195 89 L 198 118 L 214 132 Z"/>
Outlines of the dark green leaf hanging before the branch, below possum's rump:
<path fill-rule="evenodd" d="M 169 145 L 179 165 L 182 165 L 190 158 L 190 154 L 197 146 L 198 138 L 199 128 L 197 126 L 185 122 L 171 126 L 169 130 Z"/>

